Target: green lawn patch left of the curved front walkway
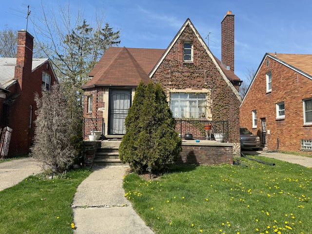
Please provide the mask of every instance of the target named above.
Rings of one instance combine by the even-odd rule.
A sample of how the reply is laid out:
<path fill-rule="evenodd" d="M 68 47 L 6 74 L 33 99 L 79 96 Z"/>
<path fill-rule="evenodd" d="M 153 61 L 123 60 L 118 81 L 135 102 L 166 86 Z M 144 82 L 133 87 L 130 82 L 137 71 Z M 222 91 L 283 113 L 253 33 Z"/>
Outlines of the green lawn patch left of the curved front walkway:
<path fill-rule="evenodd" d="M 78 169 L 48 179 L 29 176 L 0 191 L 1 234 L 72 234 L 71 203 L 91 170 Z"/>

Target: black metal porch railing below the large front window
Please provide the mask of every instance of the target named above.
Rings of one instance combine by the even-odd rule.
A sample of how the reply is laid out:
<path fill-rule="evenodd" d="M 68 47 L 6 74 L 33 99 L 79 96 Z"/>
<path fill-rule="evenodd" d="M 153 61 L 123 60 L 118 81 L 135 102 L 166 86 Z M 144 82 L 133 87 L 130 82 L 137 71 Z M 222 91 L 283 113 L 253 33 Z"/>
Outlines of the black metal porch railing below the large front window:
<path fill-rule="evenodd" d="M 214 134 L 224 134 L 224 141 L 229 142 L 229 121 L 210 121 L 202 119 L 175 119 L 176 131 L 182 138 L 186 133 L 193 135 L 194 139 L 207 139 L 207 132 L 205 131 L 205 125 L 211 125 L 209 132 L 209 138 L 214 139 Z"/>

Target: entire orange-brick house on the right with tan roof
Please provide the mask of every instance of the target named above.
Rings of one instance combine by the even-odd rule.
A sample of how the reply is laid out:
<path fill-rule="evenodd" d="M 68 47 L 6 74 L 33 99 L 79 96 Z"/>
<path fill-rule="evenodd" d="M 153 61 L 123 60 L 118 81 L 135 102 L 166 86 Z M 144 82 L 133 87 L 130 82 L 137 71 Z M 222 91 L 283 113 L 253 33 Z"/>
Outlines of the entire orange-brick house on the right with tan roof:
<path fill-rule="evenodd" d="M 269 150 L 312 152 L 312 55 L 266 53 L 240 105 L 240 125 Z"/>

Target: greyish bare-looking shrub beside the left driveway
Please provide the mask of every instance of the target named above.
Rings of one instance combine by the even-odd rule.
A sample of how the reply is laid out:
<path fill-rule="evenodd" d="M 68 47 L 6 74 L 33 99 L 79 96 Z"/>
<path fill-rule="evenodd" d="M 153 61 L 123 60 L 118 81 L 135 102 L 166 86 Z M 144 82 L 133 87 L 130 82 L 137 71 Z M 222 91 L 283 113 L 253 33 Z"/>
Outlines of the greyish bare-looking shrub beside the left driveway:
<path fill-rule="evenodd" d="M 43 169 L 65 171 L 78 156 L 71 140 L 75 131 L 66 98 L 59 84 L 54 84 L 50 91 L 42 90 L 41 98 L 36 94 L 35 100 L 38 110 L 32 156 Z"/>

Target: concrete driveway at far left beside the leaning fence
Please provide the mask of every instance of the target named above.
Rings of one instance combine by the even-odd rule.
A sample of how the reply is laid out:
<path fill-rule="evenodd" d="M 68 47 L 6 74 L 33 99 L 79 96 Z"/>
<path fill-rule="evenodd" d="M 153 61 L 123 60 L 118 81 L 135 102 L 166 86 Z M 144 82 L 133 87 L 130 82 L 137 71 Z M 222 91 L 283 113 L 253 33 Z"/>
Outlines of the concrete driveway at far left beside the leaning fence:
<path fill-rule="evenodd" d="M 0 191 L 12 187 L 24 178 L 41 173 L 39 164 L 32 157 L 0 163 Z"/>

